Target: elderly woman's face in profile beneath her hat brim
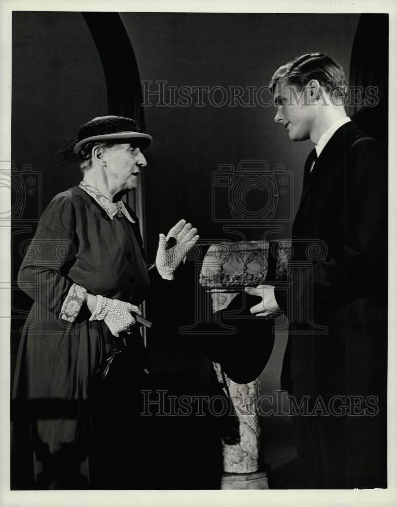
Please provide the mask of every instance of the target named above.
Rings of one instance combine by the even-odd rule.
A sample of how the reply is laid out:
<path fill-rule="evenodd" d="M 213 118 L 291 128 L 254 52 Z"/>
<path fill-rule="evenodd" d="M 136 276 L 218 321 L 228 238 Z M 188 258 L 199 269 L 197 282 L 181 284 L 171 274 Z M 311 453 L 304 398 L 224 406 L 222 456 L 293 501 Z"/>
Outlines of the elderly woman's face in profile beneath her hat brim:
<path fill-rule="evenodd" d="M 140 168 L 147 165 L 146 158 L 140 149 L 128 142 L 106 149 L 106 168 L 118 191 L 136 188 Z"/>

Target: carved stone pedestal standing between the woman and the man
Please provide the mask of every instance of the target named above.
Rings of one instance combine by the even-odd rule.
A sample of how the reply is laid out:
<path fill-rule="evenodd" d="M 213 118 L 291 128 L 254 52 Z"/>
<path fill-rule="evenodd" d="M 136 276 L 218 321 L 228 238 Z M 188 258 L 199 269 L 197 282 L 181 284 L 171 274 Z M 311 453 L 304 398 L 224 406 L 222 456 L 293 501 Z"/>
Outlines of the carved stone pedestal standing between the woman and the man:
<path fill-rule="evenodd" d="M 273 264 L 269 263 L 270 258 Z M 212 311 L 227 308 L 244 287 L 264 283 L 269 270 L 274 279 L 282 276 L 287 259 L 288 244 L 285 241 L 273 245 L 266 241 L 212 244 L 200 273 L 200 284 L 211 291 Z M 239 441 L 234 444 L 223 442 L 221 489 L 269 489 L 266 472 L 259 470 L 261 421 L 257 400 L 261 395 L 260 381 L 237 384 L 228 378 L 220 364 L 212 365 L 218 382 L 230 396 L 239 423 Z"/>

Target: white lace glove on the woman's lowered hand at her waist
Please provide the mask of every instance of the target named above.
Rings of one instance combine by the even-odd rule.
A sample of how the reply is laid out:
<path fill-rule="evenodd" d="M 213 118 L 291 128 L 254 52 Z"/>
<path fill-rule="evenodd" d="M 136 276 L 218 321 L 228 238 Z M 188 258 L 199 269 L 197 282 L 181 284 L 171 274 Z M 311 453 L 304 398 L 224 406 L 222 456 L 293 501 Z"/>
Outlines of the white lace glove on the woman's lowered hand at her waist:
<path fill-rule="evenodd" d="M 136 323 L 131 312 L 142 315 L 139 308 L 118 299 L 109 299 L 103 296 L 97 296 L 97 298 L 96 308 L 90 320 L 103 320 L 113 336 L 119 336 L 122 331 L 127 331 L 130 334 L 130 327 Z"/>

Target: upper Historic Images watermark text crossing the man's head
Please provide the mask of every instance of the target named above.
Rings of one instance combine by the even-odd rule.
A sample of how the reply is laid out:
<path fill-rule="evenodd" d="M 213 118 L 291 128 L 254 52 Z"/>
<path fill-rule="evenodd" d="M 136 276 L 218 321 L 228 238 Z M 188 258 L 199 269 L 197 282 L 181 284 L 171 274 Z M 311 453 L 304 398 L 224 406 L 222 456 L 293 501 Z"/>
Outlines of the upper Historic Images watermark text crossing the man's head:
<path fill-rule="evenodd" d="M 270 86 L 174 86 L 168 81 L 141 81 L 143 107 L 269 107 L 274 104 Z M 305 101 L 305 94 L 297 93 L 293 87 L 286 103 Z M 330 90 L 330 99 L 336 100 L 339 88 Z M 319 92 L 321 94 L 321 90 Z M 324 97 L 320 95 L 320 99 Z M 294 103 L 295 103 L 294 102 Z M 346 106 L 375 107 L 379 103 L 377 86 L 350 86 L 345 98 Z"/>

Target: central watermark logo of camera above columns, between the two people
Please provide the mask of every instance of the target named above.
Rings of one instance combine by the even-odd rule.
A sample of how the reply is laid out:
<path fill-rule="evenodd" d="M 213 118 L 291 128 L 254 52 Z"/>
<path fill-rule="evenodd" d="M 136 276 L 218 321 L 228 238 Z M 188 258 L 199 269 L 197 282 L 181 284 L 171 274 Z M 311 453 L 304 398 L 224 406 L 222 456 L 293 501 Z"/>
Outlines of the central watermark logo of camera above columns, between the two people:
<path fill-rule="evenodd" d="M 188 254 L 189 260 L 196 263 L 195 278 L 200 284 L 196 285 L 195 322 L 179 332 L 235 334 L 236 319 L 255 316 L 246 315 L 243 307 L 240 312 L 218 312 L 217 308 L 223 309 L 231 301 L 230 294 L 225 293 L 240 292 L 244 300 L 245 287 L 276 283 L 280 291 L 285 291 L 287 314 L 298 324 L 291 333 L 327 334 L 328 328 L 313 320 L 312 270 L 327 257 L 328 246 L 318 238 L 285 237 L 286 226 L 294 220 L 293 172 L 281 164 L 270 166 L 266 160 L 240 160 L 236 165 L 219 164 L 211 178 L 212 221 L 222 224 L 226 233 L 237 234 L 240 240 L 201 241 Z M 258 231 L 257 246 L 247 241 L 247 230 L 251 236 L 252 230 Z M 271 318 L 276 316 L 280 312 Z M 305 324 L 304 330 L 300 324 Z M 279 330 L 286 331 L 286 327 L 287 323 Z"/>

